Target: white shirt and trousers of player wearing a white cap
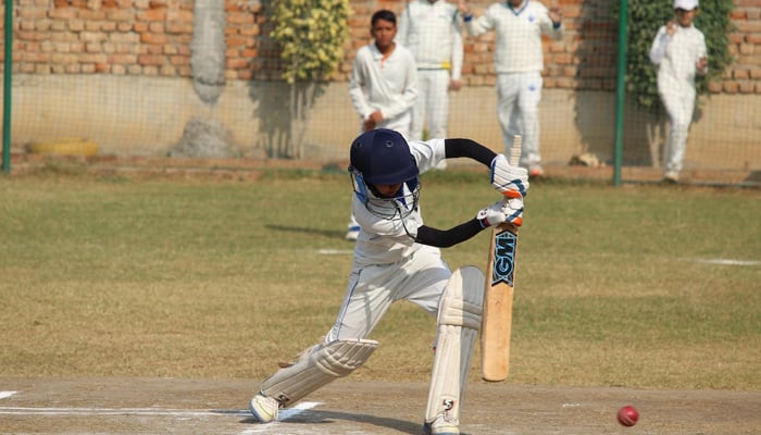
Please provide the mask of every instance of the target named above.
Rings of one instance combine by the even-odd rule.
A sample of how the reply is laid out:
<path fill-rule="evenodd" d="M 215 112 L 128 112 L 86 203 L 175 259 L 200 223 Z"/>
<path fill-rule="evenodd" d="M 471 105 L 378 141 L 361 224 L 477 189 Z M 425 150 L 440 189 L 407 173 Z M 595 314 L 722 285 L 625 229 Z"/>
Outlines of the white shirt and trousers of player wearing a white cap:
<path fill-rule="evenodd" d="M 666 26 L 661 26 L 650 48 L 650 60 L 658 65 L 658 94 L 671 122 L 663 156 L 666 174 L 678 174 L 682 171 L 695 110 L 696 64 L 707 52 L 702 32 L 693 25 L 677 26 L 674 35 L 669 35 Z M 708 69 L 700 73 L 707 72 Z"/>

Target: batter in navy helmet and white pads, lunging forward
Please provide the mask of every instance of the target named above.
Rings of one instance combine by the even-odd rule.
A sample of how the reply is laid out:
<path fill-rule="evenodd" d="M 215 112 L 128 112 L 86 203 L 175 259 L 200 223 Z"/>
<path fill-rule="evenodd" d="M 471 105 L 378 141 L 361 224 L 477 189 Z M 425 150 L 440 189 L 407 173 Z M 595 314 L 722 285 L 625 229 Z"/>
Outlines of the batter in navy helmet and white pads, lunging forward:
<path fill-rule="evenodd" d="M 499 201 L 450 229 L 423 223 L 419 174 L 444 159 L 471 158 L 491 170 L 491 184 L 515 199 Z M 473 266 L 450 272 L 439 248 L 470 239 L 504 222 L 520 224 L 525 169 L 470 139 L 408 141 L 379 128 L 351 144 L 352 211 L 361 224 L 344 302 L 325 339 L 266 378 L 250 403 L 262 423 L 278 409 L 347 376 L 378 346 L 366 337 L 392 302 L 409 300 L 437 315 L 436 356 L 425 411 L 426 434 L 459 434 L 463 391 L 484 302 L 484 275 Z"/>

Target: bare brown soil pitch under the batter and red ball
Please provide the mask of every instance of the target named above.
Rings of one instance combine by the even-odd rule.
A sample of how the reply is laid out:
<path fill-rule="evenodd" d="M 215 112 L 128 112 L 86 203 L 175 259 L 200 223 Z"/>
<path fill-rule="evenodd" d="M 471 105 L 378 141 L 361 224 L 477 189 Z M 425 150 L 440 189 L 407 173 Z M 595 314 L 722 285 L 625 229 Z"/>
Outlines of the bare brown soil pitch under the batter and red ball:
<path fill-rule="evenodd" d="M 3 434 L 420 434 L 427 385 L 339 380 L 280 421 L 247 411 L 257 380 L 0 378 Z M 8 391 L 16 391 L 10 394 Z M 640 412 L 633 427 L 616 411 Z M 761 391 L 469 385 L 463 434 L 758 434 Z"/>

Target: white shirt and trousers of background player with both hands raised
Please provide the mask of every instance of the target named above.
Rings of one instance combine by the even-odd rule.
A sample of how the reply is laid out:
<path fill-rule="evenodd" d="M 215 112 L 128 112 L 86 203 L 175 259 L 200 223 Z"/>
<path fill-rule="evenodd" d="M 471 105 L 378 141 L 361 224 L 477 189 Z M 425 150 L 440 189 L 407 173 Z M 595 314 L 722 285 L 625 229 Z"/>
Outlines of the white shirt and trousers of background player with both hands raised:
<path fill-rule="evenodd" d="M 519 9 L 508 2 L 491 4 L 479 17 L 465 18 L 471 36 L 494 29 L 497 36 L 497 115 L 502 127 L 506 152 L 510 153 L 513 136 L 523 136 L 521 165 L 539 165 L 539 101 L 544 54 L 541 34 L 552 39 L 563 37 L 562 24 L 556 26 L 547 8 L 526 0 Z"/>

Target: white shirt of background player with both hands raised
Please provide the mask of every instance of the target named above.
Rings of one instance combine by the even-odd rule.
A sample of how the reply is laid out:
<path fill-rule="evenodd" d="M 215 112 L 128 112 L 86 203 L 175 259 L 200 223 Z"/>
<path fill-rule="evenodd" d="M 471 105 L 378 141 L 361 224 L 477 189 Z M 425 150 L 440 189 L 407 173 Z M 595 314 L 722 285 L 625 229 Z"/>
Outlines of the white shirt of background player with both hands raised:
<path fill-rule="evenodd" d="M 497 73 L 524 73 L 545 67 L 541 34 L 554 40 L 563 37 L 563 26 L 556 27 L 547 8 L 526 0 L 520 9 L 508 2 L 491 4 L 477 18 L 465 18 L 465 29 L 479 36 L 494 29 L 497 35 L 495 66 Z"/>

